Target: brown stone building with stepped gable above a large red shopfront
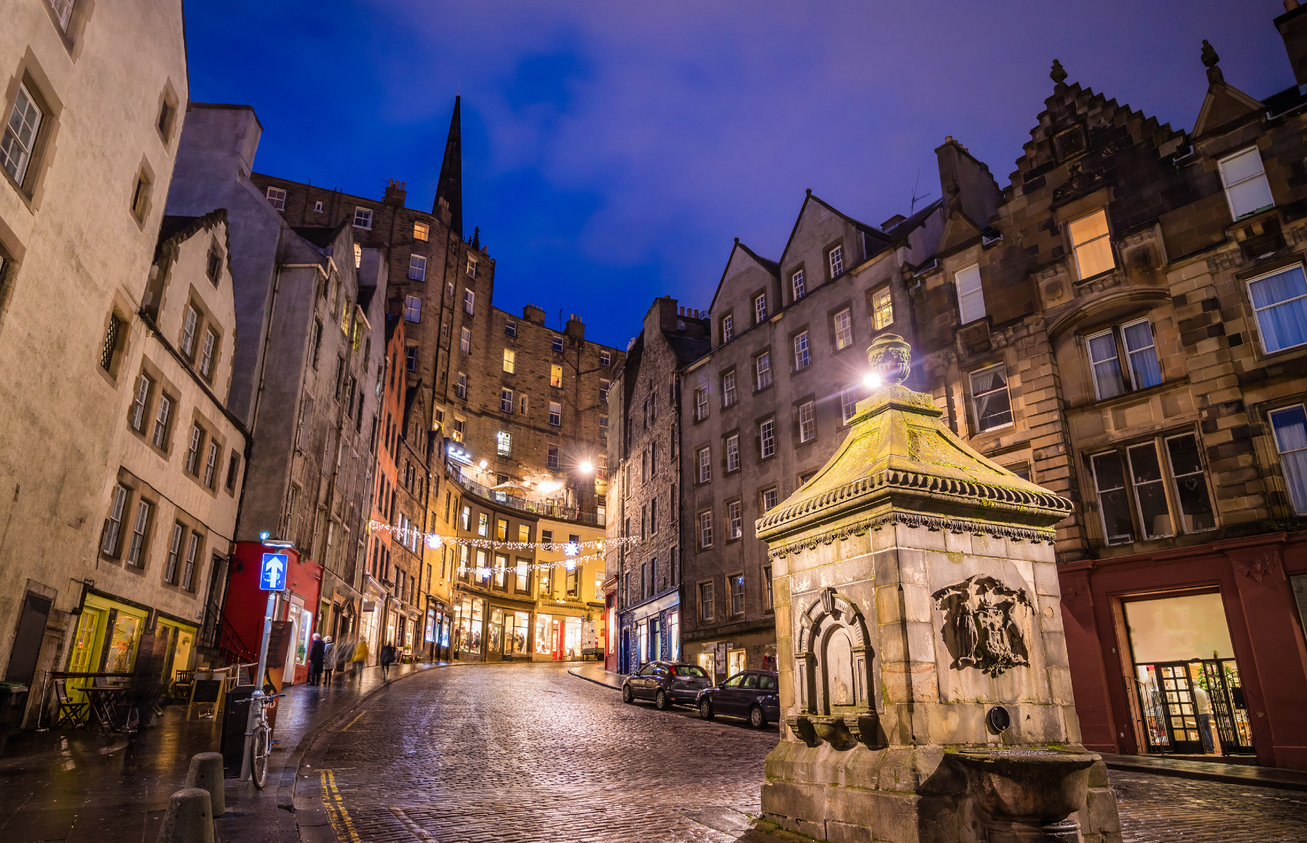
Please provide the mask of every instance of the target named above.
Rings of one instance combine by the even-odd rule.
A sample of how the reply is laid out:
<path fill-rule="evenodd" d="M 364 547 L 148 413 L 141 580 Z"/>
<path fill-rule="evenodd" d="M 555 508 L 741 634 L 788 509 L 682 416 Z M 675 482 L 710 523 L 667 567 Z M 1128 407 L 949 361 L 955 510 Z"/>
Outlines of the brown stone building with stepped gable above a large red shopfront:
<path fill-rule="evenodd" d="M 993 216 L 950 203 L 910 278 L 954 430 L 1077 504 L 1056 550 L 1095 750 L 1307 769 L 1307 9 L 1286 5 L 1295 86 L 1244 93 L 1204 42 L 1191 131 L 1053 63 Z"/>

